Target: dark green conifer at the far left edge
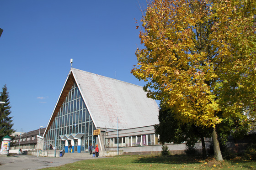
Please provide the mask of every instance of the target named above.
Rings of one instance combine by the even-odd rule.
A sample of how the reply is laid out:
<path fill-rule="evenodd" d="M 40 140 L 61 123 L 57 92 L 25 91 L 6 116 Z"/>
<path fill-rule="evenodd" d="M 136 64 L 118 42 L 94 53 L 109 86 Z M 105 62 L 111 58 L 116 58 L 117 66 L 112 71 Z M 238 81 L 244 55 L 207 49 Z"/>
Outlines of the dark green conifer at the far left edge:
<path fill-rule="evenodd" d="M 0 101 L 5 102 L 5 104 L 0 105 L 0 141 L 6 135 L 11 135 L 11 133 L 14 132 L 14 129 L 12 129 L 12 117 L 9 116 L 11 114 L 11 106 L 6 84 L 2 90 L 3 91 L 0 93 Z"/>

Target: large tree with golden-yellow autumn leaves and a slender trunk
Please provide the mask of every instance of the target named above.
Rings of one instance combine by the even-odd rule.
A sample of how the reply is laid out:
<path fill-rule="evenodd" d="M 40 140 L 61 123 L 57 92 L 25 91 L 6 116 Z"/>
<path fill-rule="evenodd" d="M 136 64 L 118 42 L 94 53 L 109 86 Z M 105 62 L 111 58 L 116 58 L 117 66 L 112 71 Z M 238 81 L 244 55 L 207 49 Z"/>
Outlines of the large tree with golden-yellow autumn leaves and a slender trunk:
<path fill-rule="evenodd" d="M 133 75 L 176 119 L 213 128 L 214 155 L 223 160 L 217 125 L 246 122 L 255 107 L 256 1 L 155 0 L 141 22 L 145 48 L 136 50 Z"/>

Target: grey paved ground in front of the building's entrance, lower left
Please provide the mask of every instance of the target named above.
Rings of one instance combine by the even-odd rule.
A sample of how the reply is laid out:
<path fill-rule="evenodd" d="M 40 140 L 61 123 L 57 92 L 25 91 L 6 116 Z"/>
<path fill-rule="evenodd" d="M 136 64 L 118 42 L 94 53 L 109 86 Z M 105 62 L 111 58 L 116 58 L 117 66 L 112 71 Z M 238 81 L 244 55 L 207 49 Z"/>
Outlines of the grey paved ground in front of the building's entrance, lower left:
<path fill-rule="evenodd" d="M 61 166 L 79 160 L 94 158 L 54 158 L 36 157 L 32 155 L 11 155 L 0 157 L 0 170 L 38 170 L 42 168 Z"/>

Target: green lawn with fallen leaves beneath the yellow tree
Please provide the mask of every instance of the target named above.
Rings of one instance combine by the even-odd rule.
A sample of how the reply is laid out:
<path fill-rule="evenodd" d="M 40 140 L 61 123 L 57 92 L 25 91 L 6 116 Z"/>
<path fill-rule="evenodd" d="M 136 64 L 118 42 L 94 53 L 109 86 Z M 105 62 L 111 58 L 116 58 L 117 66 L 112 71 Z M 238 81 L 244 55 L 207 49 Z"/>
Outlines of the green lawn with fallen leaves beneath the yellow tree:
<path fill-rule="evenodd" d="M 185 155 L 152 156 L 133 155 L 115 156 L 81 160 L 59 167 L 42 170 L 256 170 L 256 161 L 225 160 L 217 162 L 213 158 L 202 160 L 201 157 Z"/>

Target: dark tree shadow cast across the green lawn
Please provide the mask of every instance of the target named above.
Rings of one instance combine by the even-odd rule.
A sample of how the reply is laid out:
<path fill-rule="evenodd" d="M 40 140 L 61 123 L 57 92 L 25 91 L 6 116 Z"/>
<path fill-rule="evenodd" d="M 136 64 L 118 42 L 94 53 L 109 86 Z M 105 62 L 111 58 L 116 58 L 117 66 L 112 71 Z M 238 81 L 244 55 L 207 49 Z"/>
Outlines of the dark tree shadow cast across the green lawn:
<path fill-rule="evenodd" d="M 198 164 L 202 161 L 200 156 L 170 155 L 170 156 L 141 156 L 134 163 L 148 164 Z"/>

